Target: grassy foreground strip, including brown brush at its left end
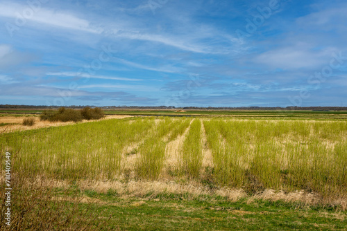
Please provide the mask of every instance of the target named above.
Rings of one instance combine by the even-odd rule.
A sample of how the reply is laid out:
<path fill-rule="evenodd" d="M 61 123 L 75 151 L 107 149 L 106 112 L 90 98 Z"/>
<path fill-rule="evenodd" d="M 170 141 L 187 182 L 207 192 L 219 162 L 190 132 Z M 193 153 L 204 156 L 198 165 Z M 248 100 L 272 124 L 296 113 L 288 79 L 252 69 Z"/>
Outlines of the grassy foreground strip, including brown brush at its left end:
<path fill-rule="evenodd" d="M 11 226 L 2 222 L 1 230 L 346 230 L 347 225 L 347 212 L 319 205 L 188 193 L 122 196 L 22 179 L 14 184 Z"/>

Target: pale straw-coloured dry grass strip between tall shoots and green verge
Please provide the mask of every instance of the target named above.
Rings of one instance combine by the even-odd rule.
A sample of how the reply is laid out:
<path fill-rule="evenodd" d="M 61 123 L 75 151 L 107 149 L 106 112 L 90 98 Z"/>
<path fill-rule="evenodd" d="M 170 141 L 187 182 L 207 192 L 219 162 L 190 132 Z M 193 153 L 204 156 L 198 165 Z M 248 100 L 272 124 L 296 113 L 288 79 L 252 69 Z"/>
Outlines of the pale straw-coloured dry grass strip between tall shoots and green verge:
<path fill-rule="evenodd" d="M 30 180 L 29 180 L 30 181 Z M 29 182 L 28 181 L 28 182 Z M 42 185 L 49 188 L 69 189 L 71 184 L 69 181 L 48 181 L 46 178 L 36 178 L 35 185 Z M 223 196 L 228 201 L 238 201 L 247 198 L 247 203 L 253 203 L 256 200 L 266 201 L 284 201 L 286 203 L 300 203 L 301 205 L 337 205 L 341 210 L 347 209 L 347 197 L 339 198 L 337 201 L 324 201 L 318 194 L 305 192 L 304 190 L 295 192 L 284 192 L 266 189 L 261 192 L 249 196 L 244 190 L 232 189 L 230 187 L 210 188 L 196 181 L 187 181 L 185 183 L 177 183 L 175 181 L 93 181 L 81 180 L 74 183 L 80 190 L 91 190 L 97 193 L 107 193 L 110 190 L 117 192 L 122 198 L 155 198 L 162 194 L 173 194 L 176 196 L 188 195 L 190 199 L 201 196 Z M 92 202 L 93 199 L 82 198 L 81 203 Z M 93 203 L 105 203 L 103 201 L 94 201 Z"/>

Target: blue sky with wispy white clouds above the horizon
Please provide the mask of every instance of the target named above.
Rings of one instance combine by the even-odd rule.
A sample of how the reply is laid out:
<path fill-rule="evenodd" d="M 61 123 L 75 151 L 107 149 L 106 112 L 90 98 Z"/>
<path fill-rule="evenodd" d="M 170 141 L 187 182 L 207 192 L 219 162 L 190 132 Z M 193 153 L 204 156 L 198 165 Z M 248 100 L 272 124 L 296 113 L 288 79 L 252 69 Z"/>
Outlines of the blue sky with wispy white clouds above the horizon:
<path fill-rule="evenodd" d="M 347 106 L 346 1 L 1 1 L 0 104 Z"/>

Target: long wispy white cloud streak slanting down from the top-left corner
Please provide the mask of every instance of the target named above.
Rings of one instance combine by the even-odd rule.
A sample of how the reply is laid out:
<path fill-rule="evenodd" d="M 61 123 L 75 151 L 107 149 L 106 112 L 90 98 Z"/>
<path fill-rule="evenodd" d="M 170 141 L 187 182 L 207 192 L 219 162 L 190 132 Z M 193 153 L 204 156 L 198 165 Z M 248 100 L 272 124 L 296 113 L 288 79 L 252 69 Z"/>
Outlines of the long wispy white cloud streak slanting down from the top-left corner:
<path fill-rule="evenodd" d="M 19 15 L 23 15 L 25 10 L 31 10 L 27 4 L 18 3 L 0 3 L 0 17 L 10 17 L 12 18 L 10 23 L 15 24 L 15 21 Z M 94 34 L 103 34 L 104 36 L 126 38 L 131 40 L 141 40 L 141 41 L 151 41 L 154 43 L 164 44 L 166 46 L 171 46 L 178 48 L 180 50 L 187 50 L 194 53 L 205 53 L 205 54 L 221 54 L 238 52 L 239 48 L 225 48 L 215 46 L 210 46 L 208 44 L 199 44 L 200 39 L 208 39 L 211 37 L 220 36 L 225 41 L 230 41 L 230 46 L 235 45 L 235 38 L 228 34 L 221 33 L 220 31 L 215 31 L 214 29 L 206 29 L 203 27 L 196 28 L 196 26 L 187 23 L 182 28 L 182 31 L 187 31 L 184 37 L 176 35 L 176 33 L 171 35 L 164 35 L 158 33 L 144 32 L 143 28 L 137 29 L 137 21 L 133 21 L 131 18 L 128 20 L 119 21 L 117 20 L 117 25 L 112 21 L 108 21 L 106 26 L 92 26 L 91 22 L 87 19 L 82 19 L 74 15 L 71 12 L 63 12 L 61 10 L 51 10 L 44 8 L 44 4 L 37 11 L 33 13 L 32 17 L 28 17 L 27 21 L 33 21 L 38 24 L 44 24 L 47 26 L 54 26 L 58 28 L 85 31 Z M 104 20 L 110 20 L 106 18 L 99 18 L 94 20 L 96 24 Z M 101 23 L 101 25 L 103 25 Z M 234 39 L 234 40 L 233 40 Z"/>

